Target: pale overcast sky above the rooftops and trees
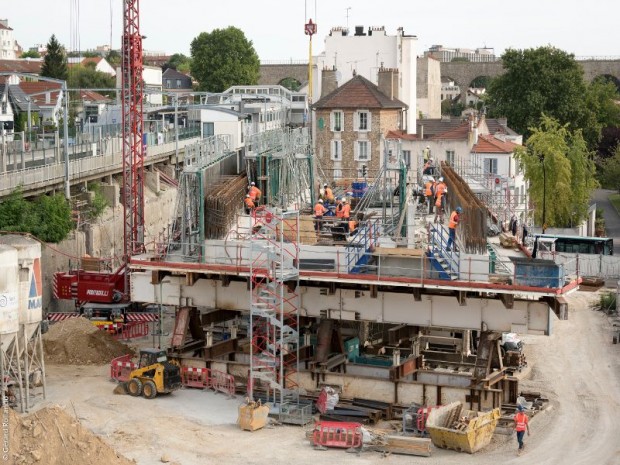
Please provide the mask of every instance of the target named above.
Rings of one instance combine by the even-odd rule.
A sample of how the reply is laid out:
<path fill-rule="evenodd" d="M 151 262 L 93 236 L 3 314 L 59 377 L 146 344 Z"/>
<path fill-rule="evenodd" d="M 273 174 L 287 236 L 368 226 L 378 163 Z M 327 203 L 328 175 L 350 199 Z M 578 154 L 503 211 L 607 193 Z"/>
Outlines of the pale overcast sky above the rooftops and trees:
<path fill-rule="evenodd" d="M 2 0 L 24 49 L 56 34 L 69 50 L 109 44 L 120 47 L 122 0 Z M 315 8 L 316 5 L 316 8 Z M 529 48 L 551 44 L 577 56 L 620 56 L 620 0 L 141 0 L 144 49 L 189 55 L 200 32 L 236 26 L 254 43 L 261 60 L 305 59 L 306 18 L 318 24 L 313 53 L 334 26 L 402 26 L 418 37 L 418 54 L 446 47 Z M 79 13 L 79 14 L 78 14 Z M 307 15 L 307 16 L 306 16 Z M 111 19 L 112 18 L 112 21 Z M 79 20 L 78 20 L 79 19 Z"/>

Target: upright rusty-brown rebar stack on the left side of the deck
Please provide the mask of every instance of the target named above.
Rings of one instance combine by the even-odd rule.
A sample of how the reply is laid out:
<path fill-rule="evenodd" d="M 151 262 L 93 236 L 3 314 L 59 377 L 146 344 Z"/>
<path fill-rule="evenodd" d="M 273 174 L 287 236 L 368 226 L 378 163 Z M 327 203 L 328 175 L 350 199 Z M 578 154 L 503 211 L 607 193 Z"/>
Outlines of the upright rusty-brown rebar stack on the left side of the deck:
<path fill-rule="evenodd" d="M 243 199 L 247 192 L 248 179 L 245 175 L 221 176 L 209 185 L 205 195 L 206 239 L 226 236 L 237 213 L 243 208 Z"/>

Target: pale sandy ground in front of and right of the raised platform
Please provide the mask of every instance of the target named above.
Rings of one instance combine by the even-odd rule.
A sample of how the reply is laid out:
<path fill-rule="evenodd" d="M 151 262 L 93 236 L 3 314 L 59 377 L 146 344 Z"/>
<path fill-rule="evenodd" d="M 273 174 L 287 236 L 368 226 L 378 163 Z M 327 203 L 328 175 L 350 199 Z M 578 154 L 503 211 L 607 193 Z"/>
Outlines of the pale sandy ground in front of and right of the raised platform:
<path fill-rule="evenodd" d="M 514 436 L 496 435 L 475 454 L 433 448 L 430 458 L 381 458 L 341 450 L 315 451 L 299 427 L 276 426 L 254 433 L 236 425 L 242 399 L 210 391 L 182 390 L 155 400 L 114 395 L 105 366 L 48 366 L 48 398 L 37 408 L 60 404 L 81 423 L 139 465 L 193 464 L 620 464 L 620 345 L 611 325 L 590 310 L 592 293 L 569 298 L 568 321 L 554 321 L 550 337 L 527 336 L 530 366 L 523 390 L 550 398 L 531 422 L 526 452 L 516 456 Z M 73 405 L 71 405 L 73 404 Z"/>

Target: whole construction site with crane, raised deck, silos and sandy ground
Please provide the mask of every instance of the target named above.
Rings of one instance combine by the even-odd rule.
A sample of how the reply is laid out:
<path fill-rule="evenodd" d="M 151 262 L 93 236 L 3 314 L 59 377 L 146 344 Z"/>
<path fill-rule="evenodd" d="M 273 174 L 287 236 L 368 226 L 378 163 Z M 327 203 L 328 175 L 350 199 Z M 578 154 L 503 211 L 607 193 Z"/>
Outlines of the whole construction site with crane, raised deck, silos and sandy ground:
<path fill-rule="evenodd" d="M 8 463 L 620 463 L 618 322 L 507 230 L 531 212 L 479 160 L 434 167 L 433 207 L 397 138 L 360 171 L 323 166 L 310 125 L 214 135 L 145 228 L 163 194 L 124 3 L 119 259 L 56 271 L 75 309 L 45 314 L 41 244 L 0 236 Z"/>

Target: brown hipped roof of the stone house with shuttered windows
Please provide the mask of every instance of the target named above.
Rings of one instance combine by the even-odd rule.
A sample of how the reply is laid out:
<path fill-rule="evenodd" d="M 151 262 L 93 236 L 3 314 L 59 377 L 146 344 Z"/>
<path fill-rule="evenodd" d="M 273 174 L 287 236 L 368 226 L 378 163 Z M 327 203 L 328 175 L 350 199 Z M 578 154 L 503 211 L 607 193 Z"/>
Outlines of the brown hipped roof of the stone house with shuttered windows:
<path fill-rule="evenodd" d="M 408 108 L 407 104 L 390 99 L 379 88 L 359 74 L 333 92 L 319 99 L 312 108 Z"/>

